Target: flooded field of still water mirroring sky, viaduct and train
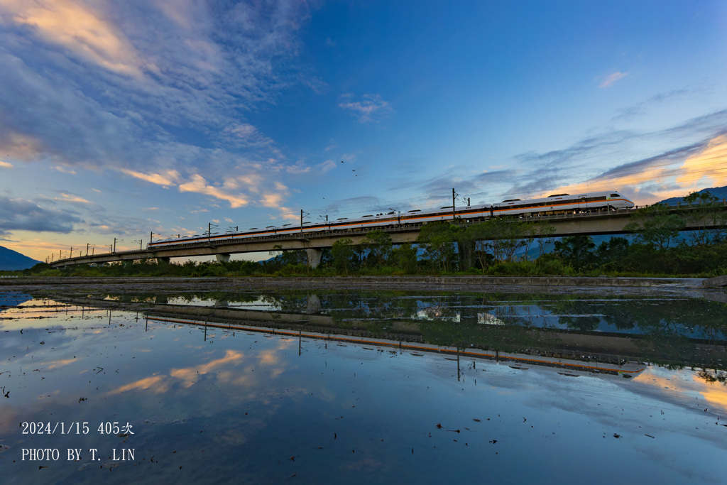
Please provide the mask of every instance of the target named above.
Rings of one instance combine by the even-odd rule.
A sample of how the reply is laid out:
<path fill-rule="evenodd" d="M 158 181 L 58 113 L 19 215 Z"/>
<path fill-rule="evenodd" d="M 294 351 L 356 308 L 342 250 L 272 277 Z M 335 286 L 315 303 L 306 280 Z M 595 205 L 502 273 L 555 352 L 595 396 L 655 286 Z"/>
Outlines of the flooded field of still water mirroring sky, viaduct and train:
<path fill-rule="evenodd" d="M 0 471 L 53 483 L 724 483 L 727 305 L 0 293 Z"/>

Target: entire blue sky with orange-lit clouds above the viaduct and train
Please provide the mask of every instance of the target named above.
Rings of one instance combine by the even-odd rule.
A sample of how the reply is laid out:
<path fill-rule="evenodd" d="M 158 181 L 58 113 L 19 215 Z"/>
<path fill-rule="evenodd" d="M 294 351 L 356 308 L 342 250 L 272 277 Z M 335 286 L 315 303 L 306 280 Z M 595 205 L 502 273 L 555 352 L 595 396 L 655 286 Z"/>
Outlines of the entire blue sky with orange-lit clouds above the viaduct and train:
<path fill-rule="evenodd" d="M 0 245 L 36 260 L 727 185 L 722 0 L 0 0 L 0 66 Z"/>

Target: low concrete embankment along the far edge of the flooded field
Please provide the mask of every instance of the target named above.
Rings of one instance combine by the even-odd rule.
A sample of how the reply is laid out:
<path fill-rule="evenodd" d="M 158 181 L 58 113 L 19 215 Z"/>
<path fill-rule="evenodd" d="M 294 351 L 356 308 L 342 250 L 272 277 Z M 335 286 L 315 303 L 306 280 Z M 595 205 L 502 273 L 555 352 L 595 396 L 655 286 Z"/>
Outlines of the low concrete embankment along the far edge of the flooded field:
<path fill-rule="evenodd" d="M 479 290 L 518 286 L 544 288 L 663 288 L 698 289 L 702 278 L 587 278 L 574 276 L 341 276 L 324 278 L 0 278 L 0 287 L 129 286 L 138 291 L 174 286 L 177 289 L 433 289 Z"/>

